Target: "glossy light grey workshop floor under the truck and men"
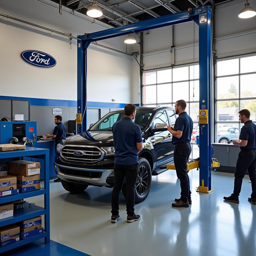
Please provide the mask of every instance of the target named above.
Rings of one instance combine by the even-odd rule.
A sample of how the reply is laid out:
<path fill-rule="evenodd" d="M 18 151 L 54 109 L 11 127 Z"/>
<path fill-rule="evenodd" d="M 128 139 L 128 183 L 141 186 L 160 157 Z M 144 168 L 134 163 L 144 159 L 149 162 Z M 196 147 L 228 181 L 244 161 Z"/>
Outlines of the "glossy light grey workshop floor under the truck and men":
<path fill-rule="evenodd" d="M 197 193 L 199 172 L 189 172 L 192 205 L 172 208 L 180 185 L 175 171 L 153 176 L 148 198 L 135 205 L 141 220 L 127 223 L 120 196 L 120 220 L 110 223 L 111 192 L 88 187 L 80 195 L 50 182 L 51 240 L 93 256 L 112 255 L 256 255 L 256 205 L 248 202 L 251 184 L 244 178 L 240 203 L 223 201 L 233 188 L 233 174 L 212 173 L 210 194 Z M 43 198 L 31 198 L 43 205 Z"/>

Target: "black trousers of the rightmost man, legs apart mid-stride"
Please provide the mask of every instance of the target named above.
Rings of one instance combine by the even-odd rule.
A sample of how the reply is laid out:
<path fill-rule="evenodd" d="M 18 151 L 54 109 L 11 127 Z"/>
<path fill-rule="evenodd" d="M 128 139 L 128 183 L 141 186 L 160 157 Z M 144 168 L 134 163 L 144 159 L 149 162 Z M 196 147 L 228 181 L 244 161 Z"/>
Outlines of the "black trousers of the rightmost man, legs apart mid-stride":
<path fill-rule="evenodd" d="M 232 196 L 238 197 L 241 192 L 243 177 L 248 170 L 252 182 L 251 197 L 256 199 L 256 150 L 241 150 L 238 154 L 235 169 L 234 191 Z"/>

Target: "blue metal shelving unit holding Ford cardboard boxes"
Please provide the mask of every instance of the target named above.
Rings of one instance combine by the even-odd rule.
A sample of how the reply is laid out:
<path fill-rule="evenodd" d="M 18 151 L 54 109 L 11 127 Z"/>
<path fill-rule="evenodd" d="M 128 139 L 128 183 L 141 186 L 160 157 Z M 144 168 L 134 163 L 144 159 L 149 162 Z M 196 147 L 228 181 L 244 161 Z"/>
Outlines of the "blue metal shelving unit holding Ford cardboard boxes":
<path fill-rule="evenodd" d="M 27 193 L 21 193 L 19 195 L 6 196 L 3 198 L 0 198 L 0 204 L 16 201 L 19 199 L 44 195 L 44 207 L 39 207 L 36 205 L 32 205 L 31 207 L 29 207 L 29 204 L 25 203 L 23 209 L 14 210 L 13 217 L 0 220 L 0 227 L 14 224 L 19 221 L 34 218 L 40 215 L 44 215 L 45 217 L 44 231 L 45 232 L 42 234 L 38 234 L 36 236 L 27 238 L 25 240 L 20 240 L 8 246 L 1 247 L 0 254 L 2 252 L 6 252 L 11 249 L 17 248 L 19 246 L 23 246 L 24 244 L 36 241 L 41 238 L 45 238 L 45 243 L 50 242 L 49 149 L 28 147 L 25 150 L 0 152 L 0 160 L 5 159 L 6 162 L 10 160 L 13 161 L 14 158 L 17 160 L 23 160 L 23 157 L 33 157 L 33 158 L 39 158 L 43 160 L 44 177 L 45 177 L 44 188 L 41 188 L 40 190 L 36 190 L 36 191 L 27 192 Z"/>

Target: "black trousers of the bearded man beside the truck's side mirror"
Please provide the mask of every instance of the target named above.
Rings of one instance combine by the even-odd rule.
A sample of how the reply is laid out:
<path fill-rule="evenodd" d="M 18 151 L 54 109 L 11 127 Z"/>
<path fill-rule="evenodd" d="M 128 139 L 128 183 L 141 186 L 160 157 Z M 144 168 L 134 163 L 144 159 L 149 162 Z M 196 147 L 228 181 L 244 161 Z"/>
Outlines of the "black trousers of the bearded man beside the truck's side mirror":
<path fill-rule="evenodd" d="M 191 196 L 189 177 L 187 173 L 187 161 L 191 153 L 191 146 L 189 143 L 182 145 L 175 145 L 174 147 L 174 165 L 177 173 L 177 177 L 180 180 L 180 199 L 182 201 L 188 201 L 188 197 Z"/>

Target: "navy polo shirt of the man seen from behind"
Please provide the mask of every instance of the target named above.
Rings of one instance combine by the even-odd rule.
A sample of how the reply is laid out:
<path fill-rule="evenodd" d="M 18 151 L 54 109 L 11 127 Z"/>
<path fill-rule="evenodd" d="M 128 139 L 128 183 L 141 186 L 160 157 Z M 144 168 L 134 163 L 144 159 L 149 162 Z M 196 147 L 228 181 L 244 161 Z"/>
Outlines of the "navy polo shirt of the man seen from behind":
<path fill-rule="evenodd" d="M 129 117 L 115 122 L 112 126 L 115 164 L 133 165 L 138 163 L 137 144 L 142 142 L 140 126 Z"/>

